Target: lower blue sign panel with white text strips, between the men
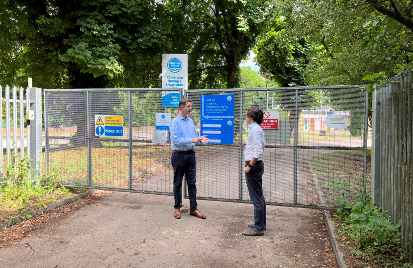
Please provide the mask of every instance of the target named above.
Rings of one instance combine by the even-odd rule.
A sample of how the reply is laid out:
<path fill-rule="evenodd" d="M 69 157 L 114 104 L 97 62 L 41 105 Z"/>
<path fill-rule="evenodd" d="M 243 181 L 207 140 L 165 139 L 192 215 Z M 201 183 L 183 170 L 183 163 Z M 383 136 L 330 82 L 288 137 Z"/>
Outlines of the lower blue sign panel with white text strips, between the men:
<path fill-rule="evenodd" d="M 208 135 L 208 143 L 233 144 L 234 143 L 234 120 L 217 119 L 201 120 L 201 136 Z"/>

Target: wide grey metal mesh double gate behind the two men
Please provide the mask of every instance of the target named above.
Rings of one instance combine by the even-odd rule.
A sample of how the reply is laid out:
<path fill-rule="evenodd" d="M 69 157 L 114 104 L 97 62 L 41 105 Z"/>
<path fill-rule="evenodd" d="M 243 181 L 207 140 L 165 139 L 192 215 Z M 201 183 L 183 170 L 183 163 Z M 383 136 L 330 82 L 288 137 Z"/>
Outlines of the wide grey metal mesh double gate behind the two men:
<path fill-rule="evenodd" d="M 45 89 L 46 165 L 67 186 L 173 195 L 170 145 L 152 143 L 155 114 L 171 89 Z M 233 143 L 196 146 L 197 198 L 250 202 L 243 168 L 245 112 L 279 112 L 279 128 L 265 130 L 263 188 L 268 204 L 335 208 L 366 187 L 367 104 L 364 85 L 185 90 L 200 129 L 201 96 L 234 95 Z M 327 129 L 344 115 L 346 129 Z M 123 135 L 95 135 L 96 115 L 123 116 Z M 185 198 L 188 198 L 185 189 Z"/>

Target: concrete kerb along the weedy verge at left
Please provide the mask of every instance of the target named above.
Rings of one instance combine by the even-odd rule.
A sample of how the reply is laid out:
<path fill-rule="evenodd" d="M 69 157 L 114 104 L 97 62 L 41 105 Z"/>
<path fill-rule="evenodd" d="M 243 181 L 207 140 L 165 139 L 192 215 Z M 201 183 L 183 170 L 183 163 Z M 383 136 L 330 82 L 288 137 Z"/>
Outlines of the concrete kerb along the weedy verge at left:
<path fill-rule="evenodd" d="M 16 223 L 19 223 L 19 222 L 23 221 L 22 218 L 24 218 L 26 215 L 31 215 L 31 216 L 35 217 L 37 215 L 40 215 L 43 212 L 47 213 L 52 209 L 61 207 L 62 205 L 65 205 L 65 204 L 73 202 L 73 201 L 78 201 L 78 200 L 84 199 L 86 197 L 90 197 L 90 196 L 92 196 L 96 193 L 99 193 L 101 191 L 102 190 L 91 190 L 91 191 L 88 191 L 88 192 L 85 192 L 85 193 L 82 193 L 82 194 L 73 195 L 71 197 L 67 197 L 67 198 L 55 201 L 55 202 L 49 204 L 47 206 L 47 208 L 46 207 L 40 207 L 40 208 L 37 208 L 35 210 L 28 211 L 28 212 L 26 212 L 22 215 L 18 215 L 18 216 L 9 218 L 8 220 L 3 220 L 3 221 L 0 222 L 0 229 L 4 228 L 6 226 L 11 226 L 13 224 L 16 224 Z"/>

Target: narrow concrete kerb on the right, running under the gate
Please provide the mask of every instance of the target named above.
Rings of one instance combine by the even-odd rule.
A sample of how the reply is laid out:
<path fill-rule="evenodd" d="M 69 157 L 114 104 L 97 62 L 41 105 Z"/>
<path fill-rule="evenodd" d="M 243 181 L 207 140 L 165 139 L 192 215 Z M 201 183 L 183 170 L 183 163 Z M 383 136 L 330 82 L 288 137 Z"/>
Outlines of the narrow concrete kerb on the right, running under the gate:
<path fill-rule="evenodd" d="M 309 159 L 309 167 L 311 171 L 312 180 L 315 185 L 315 191 L 317 192 L 318 200 L 321 204 L 324 202 L 324 196 L 322 194 L 322 190 L 318 188 L 318 177 L 314 174 L 314 170 L 312 169 L 310 159 Z M 339 268 L 346 268 L 344 259 L 343 259 L 343 252 L 338 247 L 337 243 L 337 233 L 335 231 L 335 226 L 333 221 L 331 220 L 331 216 L 329 213 L 322 209 L 322 216 L 324 218 L 325 227 L 327 228 L 328 237 L 330 238 L 331 246 L 333 247 L 335 258 L 337 259 L 338 267 Z"/>

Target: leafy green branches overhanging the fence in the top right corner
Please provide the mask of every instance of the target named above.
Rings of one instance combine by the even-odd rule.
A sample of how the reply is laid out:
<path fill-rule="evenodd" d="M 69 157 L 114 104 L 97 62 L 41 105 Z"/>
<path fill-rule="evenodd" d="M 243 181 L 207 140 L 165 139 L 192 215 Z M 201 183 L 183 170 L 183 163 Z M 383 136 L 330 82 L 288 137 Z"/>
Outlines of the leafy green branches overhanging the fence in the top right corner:
<path fill-rule="evenodd" d="M 331 0 L 331 7 L 354 10 L 357 29 L 363 32 L 360 49 L 380 67 L 363 79 L 382 84 L 398 72 L 412 68 L 413 2 L 378 0 Z M 370 18 L 363 19 L 363 14 Z"/>

